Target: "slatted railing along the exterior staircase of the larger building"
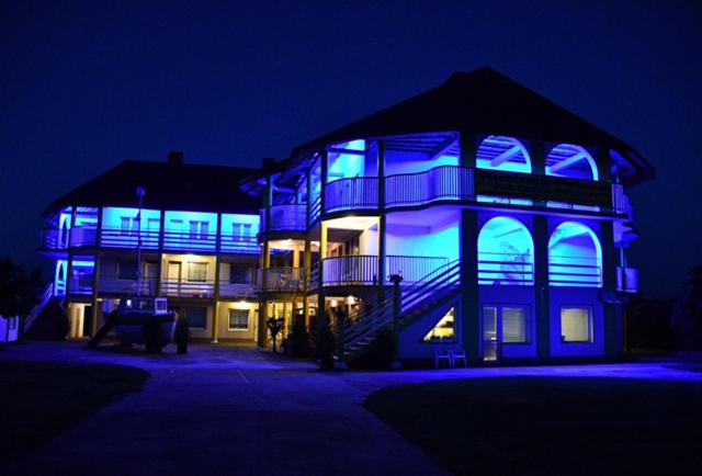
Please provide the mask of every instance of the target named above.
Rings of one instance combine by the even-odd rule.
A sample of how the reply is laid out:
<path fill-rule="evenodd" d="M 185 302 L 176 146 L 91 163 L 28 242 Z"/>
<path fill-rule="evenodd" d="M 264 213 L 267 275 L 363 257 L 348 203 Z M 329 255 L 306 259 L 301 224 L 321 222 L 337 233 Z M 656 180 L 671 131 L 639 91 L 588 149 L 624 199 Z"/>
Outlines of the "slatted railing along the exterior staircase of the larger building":
<path fill-rule="evenodd" d="M 461 262 L 452 261 L 440 267 L 412 285 L 404 288 L 400 301 L 400 319 L 420 306 L 424 299 L 434 296 L 461 281 Z M 365 347 L 380 331 L 393 322 L 393 296 L 385 298 L 365 315 L 351 316 L 353 324 L 348 325 L 344 332 L 347 353 L 353 353 L 354 347 Z M 363 342 L 369 340 L 367 342 Z M 361 345 L 361 343 L 363 343 Z M 356 351 L 360 349 L 355 349 Z"/>

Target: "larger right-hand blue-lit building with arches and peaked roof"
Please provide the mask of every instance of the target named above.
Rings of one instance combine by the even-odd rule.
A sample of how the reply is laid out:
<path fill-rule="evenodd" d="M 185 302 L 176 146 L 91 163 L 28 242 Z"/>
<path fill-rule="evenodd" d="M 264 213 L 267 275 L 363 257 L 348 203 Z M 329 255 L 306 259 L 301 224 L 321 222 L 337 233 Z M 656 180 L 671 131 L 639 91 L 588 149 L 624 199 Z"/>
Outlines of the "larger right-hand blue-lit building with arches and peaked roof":
<path fill-rule="evenodd" d="M 654 175 L 499 72 L 455 73 L 242 183 L 263 202 L 261 317 L 343 311 L 352 360 L 394 325 L 401 274 L 400 360 L 615 359 L 637 288 L 626 188 Z"/>

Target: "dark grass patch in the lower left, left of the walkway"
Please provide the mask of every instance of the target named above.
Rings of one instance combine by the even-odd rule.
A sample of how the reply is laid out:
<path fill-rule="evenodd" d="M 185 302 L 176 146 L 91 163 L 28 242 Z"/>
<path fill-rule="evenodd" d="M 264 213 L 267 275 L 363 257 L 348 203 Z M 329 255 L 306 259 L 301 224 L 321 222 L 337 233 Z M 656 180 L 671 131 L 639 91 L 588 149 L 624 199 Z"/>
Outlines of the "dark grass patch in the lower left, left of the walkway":
<path fill-rule="evenodd" d="M 118 365 L 0 362 L 0 465 L 138 392 L 148 373 Z"/>

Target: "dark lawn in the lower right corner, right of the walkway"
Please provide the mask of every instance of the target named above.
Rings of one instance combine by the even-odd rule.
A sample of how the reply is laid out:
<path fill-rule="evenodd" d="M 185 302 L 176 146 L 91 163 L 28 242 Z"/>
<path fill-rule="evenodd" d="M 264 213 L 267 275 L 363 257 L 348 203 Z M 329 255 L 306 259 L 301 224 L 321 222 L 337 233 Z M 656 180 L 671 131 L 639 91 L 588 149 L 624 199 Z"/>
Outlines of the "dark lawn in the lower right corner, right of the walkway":
<path fill-rule="evenodd" d="M 702 474 L 697 383 L 457 379 L 388 387 L 365 407 L 455 474 Z"/>

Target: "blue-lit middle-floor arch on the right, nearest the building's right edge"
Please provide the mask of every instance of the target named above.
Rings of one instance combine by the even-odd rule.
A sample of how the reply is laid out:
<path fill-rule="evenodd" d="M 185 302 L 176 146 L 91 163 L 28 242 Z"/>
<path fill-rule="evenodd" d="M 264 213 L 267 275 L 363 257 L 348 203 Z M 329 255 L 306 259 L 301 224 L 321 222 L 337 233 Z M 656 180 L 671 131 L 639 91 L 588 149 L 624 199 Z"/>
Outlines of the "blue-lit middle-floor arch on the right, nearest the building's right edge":
<path fill-rule="evenodd" d="M 602 287 L 602 247 L 588 227 L 564 222 L 548 238 L 548 284 Z"/>

